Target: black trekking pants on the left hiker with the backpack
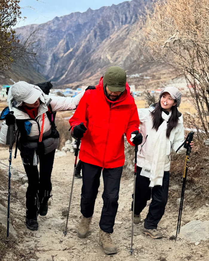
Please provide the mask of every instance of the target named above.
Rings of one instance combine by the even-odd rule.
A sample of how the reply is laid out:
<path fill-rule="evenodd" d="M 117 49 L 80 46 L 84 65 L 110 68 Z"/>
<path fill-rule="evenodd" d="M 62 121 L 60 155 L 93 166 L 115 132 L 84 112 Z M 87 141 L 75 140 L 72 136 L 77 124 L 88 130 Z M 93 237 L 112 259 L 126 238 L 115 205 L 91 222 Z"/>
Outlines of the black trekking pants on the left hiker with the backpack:
<path fill-rule="evenodd" d="M 23 164 L 28 178 L 28 187 L 26 192 L 26 208 L 28 218 L 37 219 L 39 203 L 47 201 L 52 189 L 51 173 L 54 163 L 55 149 L 48 154 L 39 157 L 38 166 L 33 166 L 33 160 L 30 165 Z"/>

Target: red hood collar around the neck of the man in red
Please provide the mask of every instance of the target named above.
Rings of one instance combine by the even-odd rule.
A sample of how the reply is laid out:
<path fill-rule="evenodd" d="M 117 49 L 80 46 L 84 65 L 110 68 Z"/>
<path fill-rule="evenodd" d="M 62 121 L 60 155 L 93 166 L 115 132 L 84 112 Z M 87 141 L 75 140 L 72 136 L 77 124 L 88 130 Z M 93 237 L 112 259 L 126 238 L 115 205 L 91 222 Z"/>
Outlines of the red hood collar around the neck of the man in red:
<path fill-rule="evenodd" d="M 125 101 L 125 104 L 133 104 L 134 103 L 134 99 L 133 97 L 130 95 L 130 87 L 128 86 L 128 83 L 126 82 L 126 88 L 125 88 L 125 91 L 124 93 L 116 100 L 116 101 L 110 101 L 107 96 L 105 95 L 105 92 L 104 92 L 104 88 L 103 88 L 103 78 L 104 76 L 102 76 L 100 78 L 100 81 L 99 81 L 99 84 L 97 85 L 97 87 L 99 88 L 99 91 L 101 92 L 102 96 L 104 97 L 104 99 L 107 101 L 107 102 L 110 102 L 110 103 L 113 103 L 113 104 L 116 104 L 116 103 L 119 103 L 119 102 L 122 102 L 122 101 Z"/>

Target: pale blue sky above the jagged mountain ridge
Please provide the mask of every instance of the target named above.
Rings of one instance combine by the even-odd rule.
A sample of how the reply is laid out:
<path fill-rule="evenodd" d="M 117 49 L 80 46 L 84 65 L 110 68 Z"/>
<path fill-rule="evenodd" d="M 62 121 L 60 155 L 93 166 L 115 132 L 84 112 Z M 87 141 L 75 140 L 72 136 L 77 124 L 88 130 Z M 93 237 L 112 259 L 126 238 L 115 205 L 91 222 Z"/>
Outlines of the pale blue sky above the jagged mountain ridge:
<path fill-rule="evenodd" d="M 42 24 L 56 16 L 64 16 L 74 12 L 85 12 L 89 7 L 93 10 L 102 6 L 119 4 L 125 0 L 21 0 L 21 16 L 26 16 L 24 21 L 19 21 L 16 27 L 27 24 Z"/>

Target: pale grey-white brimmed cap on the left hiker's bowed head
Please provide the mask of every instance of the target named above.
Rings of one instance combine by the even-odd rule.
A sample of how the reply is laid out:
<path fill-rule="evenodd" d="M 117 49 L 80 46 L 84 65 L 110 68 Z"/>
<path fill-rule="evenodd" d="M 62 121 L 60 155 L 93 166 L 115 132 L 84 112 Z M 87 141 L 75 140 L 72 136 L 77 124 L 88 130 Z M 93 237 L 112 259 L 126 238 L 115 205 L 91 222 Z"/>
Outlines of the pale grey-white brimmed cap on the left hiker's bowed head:
<path fill-rule="evenodd" d="M 22 102 L 29 104 L 35 103 L 42 95 L 42 92 L 34 88 L 33 84 L 28 84 L 25 81 L 19 81 L 11 87 L 11 94 L 17 101 L 17 107 L 22 105 Z"/>

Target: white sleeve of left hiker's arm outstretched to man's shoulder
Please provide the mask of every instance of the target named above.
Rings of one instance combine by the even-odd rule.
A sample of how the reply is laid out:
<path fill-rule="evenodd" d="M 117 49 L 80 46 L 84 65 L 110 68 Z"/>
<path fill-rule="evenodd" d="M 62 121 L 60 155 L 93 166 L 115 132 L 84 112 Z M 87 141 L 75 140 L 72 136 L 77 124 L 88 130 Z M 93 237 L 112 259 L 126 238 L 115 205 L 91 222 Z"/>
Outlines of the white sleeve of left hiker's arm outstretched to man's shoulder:
<path fill-rule="evenodd" d="M 75 97 L 58 97 L 50 96 L 50 102 L 53 112 L 75 110 L 79 104 L 80 99 L 83 97 L 84 92 L 79 93 Z"/>

